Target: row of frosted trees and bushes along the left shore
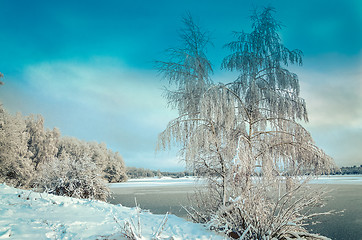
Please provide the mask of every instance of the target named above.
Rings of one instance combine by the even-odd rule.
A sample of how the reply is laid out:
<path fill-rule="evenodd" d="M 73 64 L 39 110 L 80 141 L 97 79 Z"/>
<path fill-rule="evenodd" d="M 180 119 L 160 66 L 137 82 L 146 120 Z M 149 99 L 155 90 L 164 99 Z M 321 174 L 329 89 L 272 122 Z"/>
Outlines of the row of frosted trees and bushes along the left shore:
<path fill-rule="evenodd" d="M 108 187 L 104 180 L 127 180 L 119 153 L 107 149 L 105 144 L 60 137 L 57 128 L 44 129 L 42 116 L 13 116 L 0 105 L 0 182 L 105 200 Z M 61 183 L 69 192 L 60 192 L 57 184 Z"/>

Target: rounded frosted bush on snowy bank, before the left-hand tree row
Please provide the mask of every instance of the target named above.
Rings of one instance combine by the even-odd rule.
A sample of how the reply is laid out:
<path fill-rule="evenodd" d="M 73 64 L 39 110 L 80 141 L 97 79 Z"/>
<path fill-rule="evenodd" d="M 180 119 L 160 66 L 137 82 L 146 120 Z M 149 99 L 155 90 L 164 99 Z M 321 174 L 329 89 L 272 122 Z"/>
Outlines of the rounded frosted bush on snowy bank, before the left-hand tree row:
<path fill-rule="evenodd" d="M 37 183 L 39 190 L 60 196 L 105 201 L 110 194 L 107 181 L 90 158 L 62 156 L 45 163 Z"/>

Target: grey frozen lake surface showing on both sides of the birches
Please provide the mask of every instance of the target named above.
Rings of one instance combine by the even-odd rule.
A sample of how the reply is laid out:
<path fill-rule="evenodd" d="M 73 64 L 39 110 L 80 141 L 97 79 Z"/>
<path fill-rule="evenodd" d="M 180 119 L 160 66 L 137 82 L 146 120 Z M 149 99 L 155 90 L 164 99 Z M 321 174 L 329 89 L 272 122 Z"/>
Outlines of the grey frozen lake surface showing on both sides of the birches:
<path fill-rule="evenodd" d="M 325 211 L 345 209 L 345 212 L 320 216 L 317 220 L 322 223 L 309 229 L 332 239 L 362 239 L 362 175 L 323 176 L 311 184 L 331 190 Z M 188 198 L 192 198 L 194 185 L 194 178 L 131 179 L 126 183 L 111 184 L 113 194 L 109 202 L 134 207 L 136 197 L 143 209 L 156 214 L 170 212 L 185 218 L 187 214 L 181 205 L 187 205 Z"/>

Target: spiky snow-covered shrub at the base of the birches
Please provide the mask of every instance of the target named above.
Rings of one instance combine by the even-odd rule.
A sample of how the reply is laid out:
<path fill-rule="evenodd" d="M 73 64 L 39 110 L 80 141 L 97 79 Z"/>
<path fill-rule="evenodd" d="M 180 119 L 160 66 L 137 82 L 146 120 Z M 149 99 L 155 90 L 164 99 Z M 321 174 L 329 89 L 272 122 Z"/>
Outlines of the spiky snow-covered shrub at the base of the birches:
<path fill-rule="evenodd" d="M 306 220 L 333 212 L 311 213 L 316 207 L 323 206 L 325 193 L 321 189 L 313 190 L 307 180 L 288 179 L 289 186 L 284 178 L 268 183 L 260 180 L 255 177 L 251 187 L 233 191 L 234 197 L 230 197 L 225 206 L 212 207 L 210 203 L 216 203 L 209 191 L 197 193 L 198 205 L 186 210 L 195 222 L 202 222 L 232 238 L 329 239 L 308 233 L 304 228 Z M 234 183 L 243 189 L 241 182 Z"/>

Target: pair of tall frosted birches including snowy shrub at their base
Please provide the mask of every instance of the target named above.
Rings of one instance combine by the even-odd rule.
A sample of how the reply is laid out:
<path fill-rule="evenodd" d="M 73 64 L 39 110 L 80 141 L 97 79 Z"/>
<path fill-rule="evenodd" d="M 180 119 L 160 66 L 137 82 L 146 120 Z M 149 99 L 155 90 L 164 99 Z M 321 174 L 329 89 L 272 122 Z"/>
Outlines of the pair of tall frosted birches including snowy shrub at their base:
<path fill-rule="evenodd" d="M 187 166 L 207 179 L 195 221 L 237 238 L 318 239 L 302 223 L 307 209 L 321 204 L 320 194 L 297 176 L 328 172 L 334 162 L 301 125 L 308 121 L 306 103 L 287 67 L 301 65 L 302 52 L 282 44 L 272 14 L 272 8 L 256 12 L 252 32 L 235 33 L 226 45 L 231 53 L 222 68 L 239 73 L 226 84 L 212 82 L 207 35 L 186 18 L 184 46 L 159 62 L 175 87 L 166 98 L 179 111 L 159 144 L 180 144 Z"/>

